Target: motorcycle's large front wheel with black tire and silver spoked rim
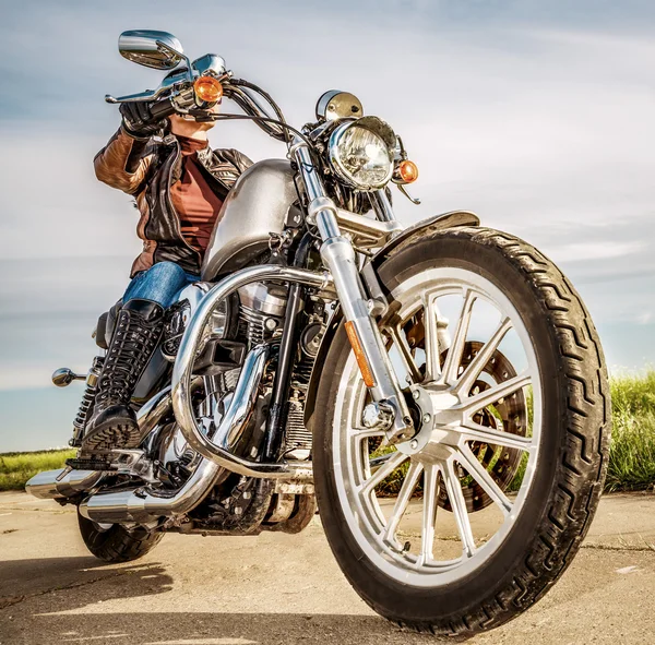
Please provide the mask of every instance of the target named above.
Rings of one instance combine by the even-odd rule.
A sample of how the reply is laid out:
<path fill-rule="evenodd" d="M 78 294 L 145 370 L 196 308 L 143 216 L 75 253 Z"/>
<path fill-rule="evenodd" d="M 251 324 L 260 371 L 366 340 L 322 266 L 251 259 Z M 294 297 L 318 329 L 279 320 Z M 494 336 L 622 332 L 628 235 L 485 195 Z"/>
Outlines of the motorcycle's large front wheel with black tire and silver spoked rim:
<path fill-rule="evenodd" d="M 379 278 L 417 432 L 389 446 L 364 428 L 370 398 L 342 324 L 310 420 L 321 521 L 378 613 L 472 635 L 536 602 L 590 527 L 610 433 L 600 343 L 562 273 L 504 232 L 413 239 Z"/>

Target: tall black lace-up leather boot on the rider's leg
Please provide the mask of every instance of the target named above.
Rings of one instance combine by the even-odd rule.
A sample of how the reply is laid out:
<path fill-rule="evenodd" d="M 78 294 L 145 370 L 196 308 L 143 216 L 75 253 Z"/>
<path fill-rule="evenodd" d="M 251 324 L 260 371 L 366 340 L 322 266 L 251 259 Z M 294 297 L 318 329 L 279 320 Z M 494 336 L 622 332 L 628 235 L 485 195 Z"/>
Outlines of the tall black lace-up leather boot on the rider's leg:
<path fill-rule="evenodd" d="M 98 377 L 93 416 L 82 440 L 83 453 L 139 445 L 139 425 L 130 399 L 163 330 L 164 309 L 157 302 L 133 299 L 120 310 Z"/>

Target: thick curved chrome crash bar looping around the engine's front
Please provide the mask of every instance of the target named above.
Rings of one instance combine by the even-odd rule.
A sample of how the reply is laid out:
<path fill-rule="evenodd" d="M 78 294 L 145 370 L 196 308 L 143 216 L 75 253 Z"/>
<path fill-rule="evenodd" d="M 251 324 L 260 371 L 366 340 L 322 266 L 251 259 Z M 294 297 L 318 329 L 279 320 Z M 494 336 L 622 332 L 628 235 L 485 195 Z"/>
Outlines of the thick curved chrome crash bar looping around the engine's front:
<path fill-rule="evenodd" d="M 191 405 L 191 374 L 198 344 L 202 332 L 217 303 L 230 294 L 250 283 L 267 279 L 301 283 L 311 287 L 324 288 L 332 279 L 329 274 L 319 274 L 303 268 L 289 266 L 261 265 L 242 268 L 221 280 L 200 303 L 189 326 L 184 331 L 172 370 L 171 392 L 172 409 L 184 439 L 189 445 L 213 463 L 234 473 L 247 477 L 310 479 L 311 468 L 308 464 L 260 464 L 250 462 L 229 453 L 224 446 L 216 444 L 203 432 Z M 254 360 L 254 359 L 253 359 Z M 258 363 L 259 365 L 259 363 Z M 243 374 L 243 370 L 242 370 Z M 243 374 L 243 379 L 249 378 Z M 239 381 L 241 378 L 239 379 Z M 238 385 L 237 385 L 238 387 Z M 233 401 L 236 401 L 236 396 Z M 229 416 L 229 415 L 226 415 Z M 222 437 L 219 429 L 216 437 Z"/>

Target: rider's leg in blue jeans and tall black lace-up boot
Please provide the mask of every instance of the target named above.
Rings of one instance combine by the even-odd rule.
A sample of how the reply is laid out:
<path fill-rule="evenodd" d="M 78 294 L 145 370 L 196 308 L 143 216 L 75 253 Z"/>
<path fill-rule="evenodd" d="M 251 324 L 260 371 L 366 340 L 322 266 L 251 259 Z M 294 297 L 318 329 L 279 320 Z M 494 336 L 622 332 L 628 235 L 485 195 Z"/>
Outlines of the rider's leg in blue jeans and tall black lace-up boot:
<path fill-rule="evenodd" d="M 128 286 L 98 377 L 93 416 L 82 443 L 84 452 L 138 445 L 139 426 L 130 399 L 159 343 L 165 308 L 196 279 L 172 262 L 159 262 L 134 276 Z"/>

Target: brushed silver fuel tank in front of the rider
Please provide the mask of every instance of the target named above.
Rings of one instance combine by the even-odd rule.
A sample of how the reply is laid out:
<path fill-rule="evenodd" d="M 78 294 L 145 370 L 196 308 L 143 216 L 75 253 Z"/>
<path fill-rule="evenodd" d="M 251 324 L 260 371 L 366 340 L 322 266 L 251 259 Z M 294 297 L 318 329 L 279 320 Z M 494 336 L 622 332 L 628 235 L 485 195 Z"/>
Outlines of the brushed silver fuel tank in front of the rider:
<path fill-rule="evenodd" d="M 203 280 L 241 268 L 269 248 L 271 232 L 282 232 L 299 212 L 294 171 L 286 159 L 253 164 L 227 194 L 201 270 Z M 296 222 L 295 224 L 298 224 Z"/>

